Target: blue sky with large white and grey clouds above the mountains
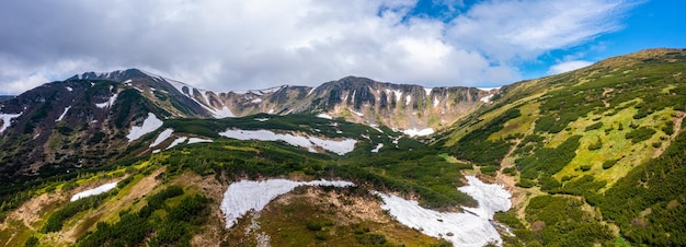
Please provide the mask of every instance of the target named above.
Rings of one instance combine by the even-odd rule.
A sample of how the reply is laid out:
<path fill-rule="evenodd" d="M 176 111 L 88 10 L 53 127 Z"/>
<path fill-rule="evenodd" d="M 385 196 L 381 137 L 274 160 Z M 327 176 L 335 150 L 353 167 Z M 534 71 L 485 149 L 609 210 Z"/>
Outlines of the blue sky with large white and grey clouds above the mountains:
<path fill-rule="evenodd" d="M 0 3 L 0 95 L 138 68 L 216 92 L 347 75 L 500 86 L 686 48 L 681 0 L 27 0 Z"/>

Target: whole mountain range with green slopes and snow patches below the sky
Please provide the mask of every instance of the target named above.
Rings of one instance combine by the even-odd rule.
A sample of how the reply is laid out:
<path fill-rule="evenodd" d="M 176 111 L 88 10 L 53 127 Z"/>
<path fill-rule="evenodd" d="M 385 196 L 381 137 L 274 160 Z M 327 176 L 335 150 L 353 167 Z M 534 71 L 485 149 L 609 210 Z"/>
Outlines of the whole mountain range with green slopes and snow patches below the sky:
<path fill-rule="evenodd" d="M 492 90 L 77 74 L 0 102 L 0 245 L 686 245 L 684 71 L 649 49 Z M 270 183 L 294 188 L 229 217 Z"/>

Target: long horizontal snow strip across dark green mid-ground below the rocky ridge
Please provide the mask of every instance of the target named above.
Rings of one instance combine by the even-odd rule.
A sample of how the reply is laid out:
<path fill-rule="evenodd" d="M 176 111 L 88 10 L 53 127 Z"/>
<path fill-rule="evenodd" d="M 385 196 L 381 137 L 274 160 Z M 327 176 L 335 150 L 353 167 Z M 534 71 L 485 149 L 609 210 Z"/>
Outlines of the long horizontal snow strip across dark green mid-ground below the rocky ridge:
<path fill-rule="evenodd" d="M 340 141 L 324 140 L 316 137 L 298 137 L 287 133 L 274 133 L 271 130 L 228 129 L 227 131 L 219 132 L 219 136 L 238 140 L 285 141 L 286 143 L 295 146 L 306 148 L 310 152 L 317 152 L 315 148 L 320 146 L 339 155 L 353 151 L 355 149 L 355 143 L 357 142 L 357 140 L 354 139 L 343 139 Z"/>

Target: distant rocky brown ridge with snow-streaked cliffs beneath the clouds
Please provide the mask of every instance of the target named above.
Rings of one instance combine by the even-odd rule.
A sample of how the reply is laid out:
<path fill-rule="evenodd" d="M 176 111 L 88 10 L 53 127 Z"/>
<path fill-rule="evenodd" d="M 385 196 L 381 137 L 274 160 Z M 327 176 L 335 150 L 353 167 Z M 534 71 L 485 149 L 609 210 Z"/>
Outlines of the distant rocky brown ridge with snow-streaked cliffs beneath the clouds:
<path fill-rule="evenodd" d="M 385 125 L 398 129 L 442 128 L 464 116 L 498 90 L 475 87 L 425 89 L 347 77 L 318 87 L 283 85 L 248 92 L 211 92 L 130 69 L 110 73 L 83 73 L 75 79 L 111 80 L 130 83 L 144 95 L 171 96 L 172 105 L 185 105 L 179 116 L 232 117 L 254 114 L 328 114 L 348 121 Z M 160 90 L 160 91 L 157 91 Z M 185 97 L 183 97 L 185 96 Z M 162 98 L 149 97 L 161 103 Z M 162 105 L 162 104 L 158 104 Z M 179 107 L 178 107 L 179 108 Z"/>

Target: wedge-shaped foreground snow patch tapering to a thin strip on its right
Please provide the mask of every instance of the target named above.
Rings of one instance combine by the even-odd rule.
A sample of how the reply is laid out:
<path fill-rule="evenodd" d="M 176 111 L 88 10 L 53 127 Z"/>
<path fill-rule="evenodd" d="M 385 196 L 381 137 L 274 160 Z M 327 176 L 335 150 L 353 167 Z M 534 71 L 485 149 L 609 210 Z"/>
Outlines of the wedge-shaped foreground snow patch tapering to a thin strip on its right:
<path fill-rule="evenodd" d="M 245 215 L 248 211 L 261 211 L 274 198 L 290 192 L 298 186 L 347 187 L 354 186 L 354 184 L 341 180 L 291 181 L 287 179 L 241 180 L 233 183 L 224 192 L 224 199 L 221 200 L 220 209 L 226 216 L 226 227 L 230 228 L 233 226 L 238 219 Z"/>

